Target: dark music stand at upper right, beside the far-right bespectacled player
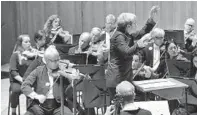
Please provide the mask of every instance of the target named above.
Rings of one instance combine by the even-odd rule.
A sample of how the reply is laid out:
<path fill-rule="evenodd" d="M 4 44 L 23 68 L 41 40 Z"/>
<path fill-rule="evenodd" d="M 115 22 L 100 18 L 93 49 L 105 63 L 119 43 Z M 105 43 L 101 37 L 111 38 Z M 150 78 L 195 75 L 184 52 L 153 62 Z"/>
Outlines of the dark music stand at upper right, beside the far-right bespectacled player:
<path fill-rule="evenodd" d="M 165 30 L 165 40 L 174 40 L 181 49 L 185 48 L 184 32 L 183 30 Z"/>

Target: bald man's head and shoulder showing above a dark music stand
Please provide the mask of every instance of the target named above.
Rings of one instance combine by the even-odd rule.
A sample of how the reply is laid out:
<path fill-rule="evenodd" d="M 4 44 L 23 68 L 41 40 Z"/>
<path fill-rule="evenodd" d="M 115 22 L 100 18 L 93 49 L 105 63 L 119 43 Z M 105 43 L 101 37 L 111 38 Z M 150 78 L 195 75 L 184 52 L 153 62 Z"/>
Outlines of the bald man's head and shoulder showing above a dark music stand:
<path fill-rule="evenodd" d="M 83 32 L 79 38 L 78 46 L 69 49 L 68 54 L 87 53 L 90 48 L 91 36 L 88 32 Z"/>

